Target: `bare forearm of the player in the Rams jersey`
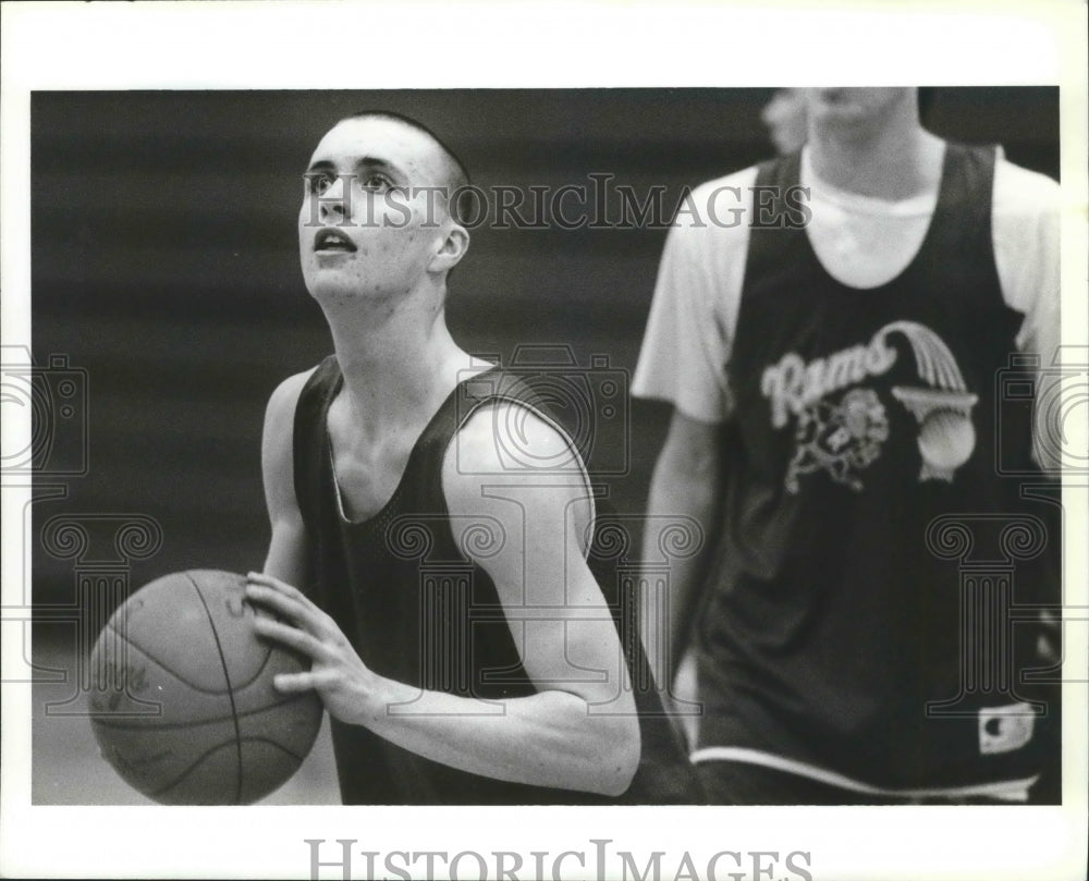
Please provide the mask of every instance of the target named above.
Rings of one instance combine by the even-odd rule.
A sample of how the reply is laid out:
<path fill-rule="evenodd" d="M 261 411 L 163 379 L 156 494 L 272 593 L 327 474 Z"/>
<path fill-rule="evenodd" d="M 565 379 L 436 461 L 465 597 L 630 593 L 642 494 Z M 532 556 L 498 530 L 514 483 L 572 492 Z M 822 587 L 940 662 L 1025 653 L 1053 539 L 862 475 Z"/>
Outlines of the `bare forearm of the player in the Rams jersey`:
<path fill-rule="evenodd" d="M 643 539 L 643 559 L 654 560 L 661 555 L 658 536 L 670 523 L 698 524 L 702 543 L 698 552 L 688 556 L 669 559 L 668 615 L 661 620 L 649 615 L 644 632 L 644 647 L 660 686 L 673 680 L 681 657 L 686 648 L 688 631 L 696 607 L 699 584 L 708 561 L 708 546 L 718 505 L 718 465 L 711 458 L 689 458 L 686 451 L 671 448 L 662 450 L 654 468 L 647 502 L 647 529 Z M 668 641 L 665 641 L 668 640 Z M 668 647 L 668 652 L 662 647 Z"/>

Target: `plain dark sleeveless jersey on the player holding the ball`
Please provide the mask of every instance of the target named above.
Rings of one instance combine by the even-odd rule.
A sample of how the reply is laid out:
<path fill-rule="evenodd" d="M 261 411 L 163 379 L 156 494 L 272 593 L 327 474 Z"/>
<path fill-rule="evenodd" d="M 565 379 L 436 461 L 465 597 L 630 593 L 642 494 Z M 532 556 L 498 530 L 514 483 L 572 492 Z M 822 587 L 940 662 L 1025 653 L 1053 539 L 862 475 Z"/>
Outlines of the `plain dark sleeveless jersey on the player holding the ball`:
<path fill-rule="evenodd" d="M 442 491 L 442 463 L 458 428 L 500 401 L 549 418 L 544 404 L 498 368 L 461 382 L 414 445 L 393 497 L 375 516 L 347 521 L 340 505 L 327 432 L 342 384 L 334 356 L 301 392 L 294 423 L 295 493 L 309 544 L 309 595 L 376 673 L 462 697 L 501 700 L 536 693 L 522 666 L 494 584 L 458 548 Z M 559 426 L 556 426 L 559 427 Z M 572 437 L 570 433 L 567 437 Z M 607 518 L 596 518 L 600 531 Z M 497 536 L 472 533 L 487 553 Z M 624 646 L 640 713 L 639 769 L 619 799 L 511 783 L 468 773 L 401 747 L 362 725 L 331 720 L 345 804 L 648 804 L 693 803 L 695 775 L 652 687 L 635 631 L 632 597 L 599 564 L 597 535 L 588 561 Z M 639 687 L 639 684 L 645 687 Z M 413 708 L 391 708 L 411 713 Z"/>

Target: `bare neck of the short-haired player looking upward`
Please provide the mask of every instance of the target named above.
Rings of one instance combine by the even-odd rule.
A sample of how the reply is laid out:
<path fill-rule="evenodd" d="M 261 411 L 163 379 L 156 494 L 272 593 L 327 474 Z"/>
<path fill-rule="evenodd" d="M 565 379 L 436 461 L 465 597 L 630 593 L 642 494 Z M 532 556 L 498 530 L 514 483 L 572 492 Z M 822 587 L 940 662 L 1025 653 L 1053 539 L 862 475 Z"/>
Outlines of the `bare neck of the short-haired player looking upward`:
<path fill-rule="evenodd" d="M 469 366 L 441 305 L 325 306 L 357 429 L 374 436 L 426 421 Z M 365 415 L 364 415 L 365 414 Z"/>

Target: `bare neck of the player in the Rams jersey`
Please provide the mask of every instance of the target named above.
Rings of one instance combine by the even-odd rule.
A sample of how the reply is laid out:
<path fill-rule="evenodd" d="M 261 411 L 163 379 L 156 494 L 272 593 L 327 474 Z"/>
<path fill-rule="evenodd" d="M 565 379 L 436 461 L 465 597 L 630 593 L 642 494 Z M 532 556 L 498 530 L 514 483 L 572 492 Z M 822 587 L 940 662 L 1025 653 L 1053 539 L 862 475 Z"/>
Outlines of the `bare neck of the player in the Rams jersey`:
<path fill-rule="evenodd" d="M 944 146 L 916 119 L 903 118 L 864 135 L 818 127 L 807 149 L 820 180 L 860 196 L 896 200 L 937 189 Z"/>

